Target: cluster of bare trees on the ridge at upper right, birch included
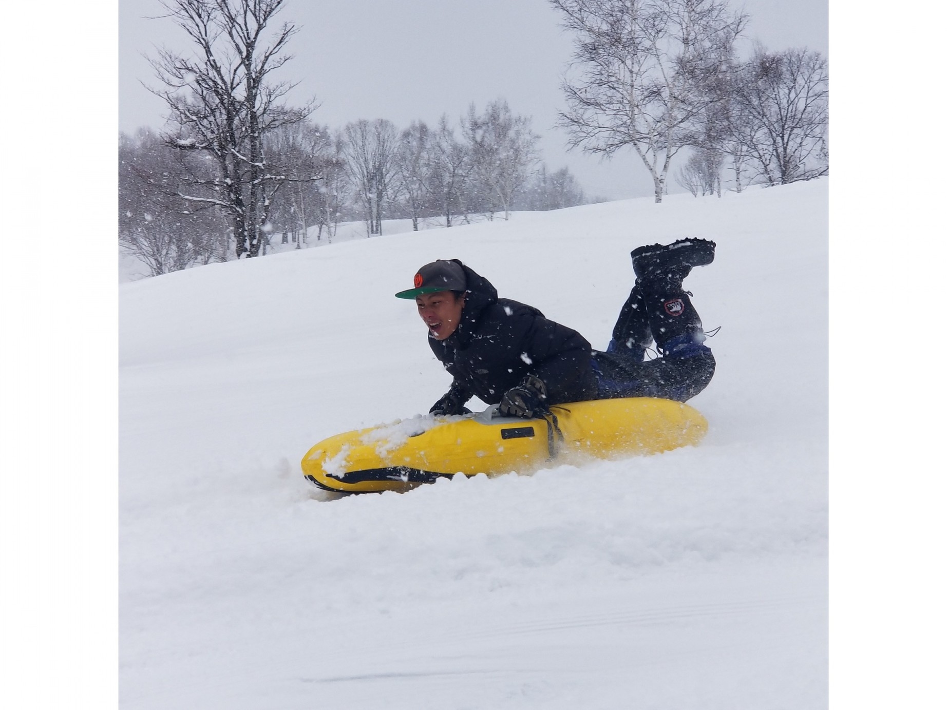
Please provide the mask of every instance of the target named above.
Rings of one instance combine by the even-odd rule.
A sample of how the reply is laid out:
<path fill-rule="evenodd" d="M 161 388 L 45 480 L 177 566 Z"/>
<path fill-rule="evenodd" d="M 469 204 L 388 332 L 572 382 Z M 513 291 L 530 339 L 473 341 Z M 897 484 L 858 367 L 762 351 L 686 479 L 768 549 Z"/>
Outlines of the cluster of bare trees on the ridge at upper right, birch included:
<path fill-rule="evenodd" d="M 818 52 L 736 42 L 749 16 L 725 0 L 550 0 L 575 37 L 559 125 L 570 145 L 634 151 L 654 200 L 672 159 L 692 194 L 784 185 L 829 171 L 829 69 Z"/>

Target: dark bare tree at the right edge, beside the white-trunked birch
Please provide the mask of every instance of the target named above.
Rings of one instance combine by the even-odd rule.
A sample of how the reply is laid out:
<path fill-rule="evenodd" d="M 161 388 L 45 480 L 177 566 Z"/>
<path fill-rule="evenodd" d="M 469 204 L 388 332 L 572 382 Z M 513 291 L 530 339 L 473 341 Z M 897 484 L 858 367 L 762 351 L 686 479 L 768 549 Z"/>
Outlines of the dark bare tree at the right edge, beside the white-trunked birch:
<path fill-rule="evenodd" d="M 730 130 L 767 185 L 829 171 L 829 66 L 818 53 L 758 46 L 740 67 Z"/>

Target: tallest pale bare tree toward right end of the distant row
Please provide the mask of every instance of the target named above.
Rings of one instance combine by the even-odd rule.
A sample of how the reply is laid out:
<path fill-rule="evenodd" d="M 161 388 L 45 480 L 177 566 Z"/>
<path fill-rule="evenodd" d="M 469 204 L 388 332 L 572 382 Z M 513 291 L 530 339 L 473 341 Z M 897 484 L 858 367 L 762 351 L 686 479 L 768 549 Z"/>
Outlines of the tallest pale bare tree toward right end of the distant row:
<path fill-rule="evenodd" d="M 472 103 L 462 122 L 474 175 L 488 201 L 485 206 L 492 213 L 498 211 L 492 205 L 497 205 L 507 220 L 517 193 L 539 160 L 539 136 L 531 123 L 527 116 L 513 115 L 502 98 L 487 104 L 483 115 L 477 115 Z"/>

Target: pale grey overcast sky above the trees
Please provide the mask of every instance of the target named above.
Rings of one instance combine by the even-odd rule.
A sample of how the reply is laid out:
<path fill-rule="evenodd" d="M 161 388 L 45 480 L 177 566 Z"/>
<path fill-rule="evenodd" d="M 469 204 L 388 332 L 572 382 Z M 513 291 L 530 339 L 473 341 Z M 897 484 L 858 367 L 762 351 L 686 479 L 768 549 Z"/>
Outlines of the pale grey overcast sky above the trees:
<path fill-rule="evenodd" d="M 731 5 L 751 15 L 747 42 L 828 54 L 827 0 Z M 162 102 L 141 85 L 152 82 L 142 54 L 153 54 L 155 45 L 187 45 L 170 19 L 152 19 L 162 13 L 158 0 L 119 2 L 118 128 L 126 133 L 164 124 Z M 565 133 L 552 126 L 564 108 L 560 81 L 572 40 L 547 0 L 287 0 L 279 20 L 299 27 L 290 44 L 295 59 L 279 78 L 298 81 L 291 102 L 317 98 L 312 118 L 321 124 L 388 118 L 403 128 L 417 118 L 434 123 L 445 112 L 456 124 L 471 101 L 482 109 L 502 97 L 514 113 L 532 116 L 549 168 L 567 165 L 588 194 L 653 194 L 631 151 L 604 163 L 565 151 Z"/>

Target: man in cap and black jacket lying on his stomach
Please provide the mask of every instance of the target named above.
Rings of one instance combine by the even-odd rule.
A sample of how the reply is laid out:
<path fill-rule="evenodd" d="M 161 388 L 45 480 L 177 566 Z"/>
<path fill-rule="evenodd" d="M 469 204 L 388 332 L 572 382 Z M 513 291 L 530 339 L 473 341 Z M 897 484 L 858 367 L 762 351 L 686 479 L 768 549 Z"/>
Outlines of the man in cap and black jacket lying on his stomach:
<path fill-rule="evenodd" d="M 457 259 L 425 264 L 414 288 L 395 295 L 415 299 L 431 349 L 454 376 L 431 413 L 465 414 L 474 395 L 499 404 L 503 416 L 523 418 L 570 401 L 694 397 L 715 363 L 682 282 L 692 267 L 713 261 L 715 246 L 690 239 L 635 249 L 634 288 L 605 352 L 537 309 L 499 298 Z M 663 357 L 646 361 L 652 342 Z"/>

